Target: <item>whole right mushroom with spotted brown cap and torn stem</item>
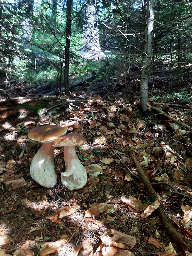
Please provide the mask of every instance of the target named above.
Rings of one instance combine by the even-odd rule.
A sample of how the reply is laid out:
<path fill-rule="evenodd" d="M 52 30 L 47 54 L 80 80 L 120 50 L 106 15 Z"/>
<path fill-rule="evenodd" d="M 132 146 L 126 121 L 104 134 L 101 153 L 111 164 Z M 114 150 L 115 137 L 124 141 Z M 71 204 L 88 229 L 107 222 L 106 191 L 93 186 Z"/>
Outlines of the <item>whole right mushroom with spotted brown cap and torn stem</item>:
<path fill-rule="evenodd" d="M 56 139 L 52 146 L 64 147 L 65 172 L 61 172 L 61 182 L 69 190 L 83 188 L 87 183 L 87 172 L 76 155 L 76 146 L 86 143 L 80 134 L 69 133 Z"/>

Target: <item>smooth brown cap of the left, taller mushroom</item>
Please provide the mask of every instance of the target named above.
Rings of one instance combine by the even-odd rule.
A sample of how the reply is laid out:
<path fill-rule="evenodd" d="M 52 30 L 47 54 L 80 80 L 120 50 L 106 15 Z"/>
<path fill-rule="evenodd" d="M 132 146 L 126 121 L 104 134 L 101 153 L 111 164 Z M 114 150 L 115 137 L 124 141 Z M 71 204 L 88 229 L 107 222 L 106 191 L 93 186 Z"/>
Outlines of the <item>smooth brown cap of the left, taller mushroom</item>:
<path fill-rule="evenodd" d="M 28 137 L 31 140 L 38 140 L 41 143 L 51 142 L 67 132 L 67 127 L 60 125 L 44 125 L 33 128 Z"/>

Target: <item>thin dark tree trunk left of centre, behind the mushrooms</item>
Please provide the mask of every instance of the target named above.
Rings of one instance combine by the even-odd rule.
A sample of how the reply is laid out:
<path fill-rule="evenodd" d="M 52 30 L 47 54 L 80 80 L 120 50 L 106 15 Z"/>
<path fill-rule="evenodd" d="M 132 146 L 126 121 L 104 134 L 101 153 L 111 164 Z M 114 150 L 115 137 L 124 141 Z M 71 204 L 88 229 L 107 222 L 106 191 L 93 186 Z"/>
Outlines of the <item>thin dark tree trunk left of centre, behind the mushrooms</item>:
<path fill-rule="evenodd" d="M 66 22 L 66 44 L 65 44 L 65 69 L 64 69 L 64 87 L 65 94 L 70 96 L 69 91 L 69 50 L 71 37 L 71 7 L 73 0 L 67 0 L 67 22 Z"/>

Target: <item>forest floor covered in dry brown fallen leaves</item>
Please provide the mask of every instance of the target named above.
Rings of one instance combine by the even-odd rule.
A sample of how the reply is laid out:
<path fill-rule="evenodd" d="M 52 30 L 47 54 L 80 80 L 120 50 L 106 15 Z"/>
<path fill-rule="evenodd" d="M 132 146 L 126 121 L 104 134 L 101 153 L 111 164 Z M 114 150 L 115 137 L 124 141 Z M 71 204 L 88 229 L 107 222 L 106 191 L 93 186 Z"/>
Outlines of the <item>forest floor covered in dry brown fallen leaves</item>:
<path fill-rule="evenodd" d="M 158 92 L 174 91 L 157 84 Z M 21 83 L 2 95 L 0 255 L 192 255 L 168 233 L 157 209 L 160 199 L 152 198 L 137 177 L 129 154 L 131 149 L 146 178 L 157 183 L 152 186 L 179 234 L 192 240 L 191 132 L 173 122 L 190 127 L 191 105 L 179 100 L 158 100 L 157 105 L 151 95 L 149 117 L 144 118 L 137 78 L 130 76 L 126 85 L 84 85 L 68 99 L 64 94 L 28 94 L 30 88 L 25 92 Z M 27 135 L 47 124 L 67 126 L 68 133 L 86 138 L 77 151 L 88 177 L 82 189 L 68 190 L 60 174 L 53 188 L 30 177 L 41 144 Z M 63 148 L 57 148 L 55 164 L 62 158 Z"/>

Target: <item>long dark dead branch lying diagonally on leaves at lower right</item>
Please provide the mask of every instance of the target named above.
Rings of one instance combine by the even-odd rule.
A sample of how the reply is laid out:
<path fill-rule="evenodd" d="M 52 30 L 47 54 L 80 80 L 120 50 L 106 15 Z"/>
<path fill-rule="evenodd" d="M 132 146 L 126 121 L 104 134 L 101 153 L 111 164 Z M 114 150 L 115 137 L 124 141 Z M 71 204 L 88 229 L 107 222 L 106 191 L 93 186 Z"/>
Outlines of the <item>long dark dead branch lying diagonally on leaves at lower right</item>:
<path fill-rule="evenodd" d="M 153 200 L 157 199 L 157 194 L 155 190 L 152 188 L 150 181 L 148 180 L 147 176 L 145 175 L 142 167 L 140 166 L 138 160 L 133 155 L 132 151 L 128 149 L 128 153 L 135 164 L 137 168 L 137 172 L 139 174 L 139 177 L 141 181 L 143 182 L 144 186 L 147 188 L 150 196 L 153 198 Z M 166 209 L 164 207 L 163 202 L 161 201 L 159 208 L 157 209 L 160 217 L 162 218 L 164 225 L 169 232 L 169 234 L 173 237 L 175 242 L 180 245 L 180 247 L 186 252 L 192 253 L 192 241 L 188 240 L 186 237 L 182 236 L 178 230 L 175 228 L 173 221 L 169 218 L 168 213 L 166 212 Z"/>

